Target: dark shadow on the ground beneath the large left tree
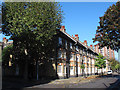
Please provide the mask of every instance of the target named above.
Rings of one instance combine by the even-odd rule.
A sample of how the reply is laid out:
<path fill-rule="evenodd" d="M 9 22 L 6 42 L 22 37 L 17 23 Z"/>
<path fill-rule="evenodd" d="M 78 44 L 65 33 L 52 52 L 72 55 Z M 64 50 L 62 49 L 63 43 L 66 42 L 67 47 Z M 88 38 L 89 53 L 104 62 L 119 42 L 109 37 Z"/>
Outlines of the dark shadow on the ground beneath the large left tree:
<path fill-rule="evenodd" d="M 15 77 L 4 77 L 2 78 L 2 90 L 23 90 L 25 87 L 32 87 L 35 85 L 47 84 L 55 78 L 40 78 L 39 80 L 24 80 Z"/>

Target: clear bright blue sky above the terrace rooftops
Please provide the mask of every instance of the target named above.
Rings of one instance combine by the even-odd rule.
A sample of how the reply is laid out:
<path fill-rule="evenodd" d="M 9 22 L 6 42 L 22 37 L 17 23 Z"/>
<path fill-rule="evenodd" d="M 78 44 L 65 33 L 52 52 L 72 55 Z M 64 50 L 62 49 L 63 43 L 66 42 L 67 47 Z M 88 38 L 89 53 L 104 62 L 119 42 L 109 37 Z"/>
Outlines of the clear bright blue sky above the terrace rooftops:
<path fill-rule="evenodd" d="M 116 2 L 60 2 L 63 11 L 63 23 L 68 34 L 79 35 L 79 40 L 87 40 L 88 45 L 95 45 L 92 38 L 95 37 L 99 17 L 103 16 L 105 11 Z M 0 34 L 0 41 L 4 35 Z M 7 37 L 9 38 L 9 37 Z M 115 52 L 118 59 L 118 54 Z"/>

